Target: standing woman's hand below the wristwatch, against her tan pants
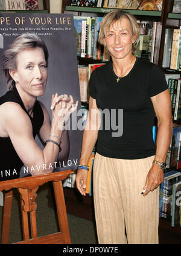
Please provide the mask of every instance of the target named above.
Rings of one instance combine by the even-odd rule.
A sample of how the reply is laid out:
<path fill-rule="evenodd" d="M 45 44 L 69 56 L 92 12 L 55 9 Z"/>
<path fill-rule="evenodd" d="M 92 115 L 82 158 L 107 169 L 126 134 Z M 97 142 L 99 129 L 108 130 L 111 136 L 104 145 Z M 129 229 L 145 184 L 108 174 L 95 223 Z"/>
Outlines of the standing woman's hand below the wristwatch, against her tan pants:
<path fill-rule="evenodd" d="M 156 189 L 164 180 L 164 170 L 160 168 L 159 165 L 153 164 L 150 171 L 147 174 L 147 179 L 145 182 L 144 196 L 147 195 L 150 191 Z"/>

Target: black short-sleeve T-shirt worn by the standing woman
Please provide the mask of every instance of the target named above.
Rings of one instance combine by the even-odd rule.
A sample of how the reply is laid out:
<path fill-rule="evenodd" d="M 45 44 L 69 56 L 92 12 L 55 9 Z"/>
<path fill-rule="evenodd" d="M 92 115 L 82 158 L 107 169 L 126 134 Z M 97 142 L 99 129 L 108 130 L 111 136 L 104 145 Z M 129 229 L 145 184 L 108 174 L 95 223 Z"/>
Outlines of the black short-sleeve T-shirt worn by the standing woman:
<path fill-rule="evenodd" d="M 90 96 L 96 99 L 102 117 L 97 152 L 117 159 L 153 156 L 155 113 L 151 97 L 168 89 L 164 73 L 137 57 L 130 73 L 119 82 L 117 78 L 112 61 L 90 76 Z"/>

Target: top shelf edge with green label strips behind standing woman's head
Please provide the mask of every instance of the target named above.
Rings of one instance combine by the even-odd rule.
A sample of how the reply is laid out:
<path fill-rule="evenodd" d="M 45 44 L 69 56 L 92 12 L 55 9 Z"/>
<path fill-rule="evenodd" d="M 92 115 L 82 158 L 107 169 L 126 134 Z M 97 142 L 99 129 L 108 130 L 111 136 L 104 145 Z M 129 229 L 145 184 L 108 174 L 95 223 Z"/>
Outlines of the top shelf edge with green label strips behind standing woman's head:
<path fill-rule="evenodd" d="M 65 7 L 66 11 L 83 11 L 88 13 L 109 13 L 112 10 L 117 10 L 116 8 L 98 8 L 98 7 L 79 7 L 79 6 L 68 6 Z M 161 11 L 146 11 L 146 10 L 132 10 L 132 9 L 122 9 L 123 11 L 129 11 L 132 15 L 142 15 L 142 16 L 161 16 Z"/>

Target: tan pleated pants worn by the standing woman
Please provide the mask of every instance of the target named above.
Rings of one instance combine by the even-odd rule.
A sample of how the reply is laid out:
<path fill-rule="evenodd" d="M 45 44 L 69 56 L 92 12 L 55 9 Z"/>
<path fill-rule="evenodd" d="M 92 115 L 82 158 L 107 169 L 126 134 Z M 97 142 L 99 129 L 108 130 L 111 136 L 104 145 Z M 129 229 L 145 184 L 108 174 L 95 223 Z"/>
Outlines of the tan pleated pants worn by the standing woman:
<path fill-rule="evenodd" d="M 113 159 L 96 153 L 93 186 L 98 243 L 158 243 L 159 188 L 145 197 L 141 194 L 153 159 Z"/>

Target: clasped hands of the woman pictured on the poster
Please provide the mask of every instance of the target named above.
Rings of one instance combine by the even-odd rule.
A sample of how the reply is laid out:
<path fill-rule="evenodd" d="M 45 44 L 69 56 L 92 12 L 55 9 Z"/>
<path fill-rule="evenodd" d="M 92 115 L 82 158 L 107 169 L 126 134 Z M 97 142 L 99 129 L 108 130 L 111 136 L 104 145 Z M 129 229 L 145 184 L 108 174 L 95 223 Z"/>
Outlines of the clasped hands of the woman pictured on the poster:
<path fill-rule="evenodd" d="M 51 99 L 51 111 L 52 119 L 58 119 L 59 130 L 65 128 L 65 123 L 69 120 L 71 114 L 77 110 L 78 100 L 74 104 L 74 99 L 71 95 L 62 94 L 58 96 L 56 93 L 52 95 Z"/>

